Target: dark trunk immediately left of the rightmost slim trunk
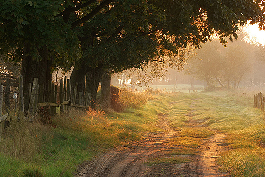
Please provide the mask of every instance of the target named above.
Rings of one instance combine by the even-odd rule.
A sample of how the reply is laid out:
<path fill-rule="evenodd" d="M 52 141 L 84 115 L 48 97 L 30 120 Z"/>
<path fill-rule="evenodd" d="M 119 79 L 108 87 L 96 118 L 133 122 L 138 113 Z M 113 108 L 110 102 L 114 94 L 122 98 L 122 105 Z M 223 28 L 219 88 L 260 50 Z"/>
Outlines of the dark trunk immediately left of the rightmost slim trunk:
<path fill-rule="evenodd" d="M 91 93 L 90 106 L 92 109 L 96 107 L 97 88 L 103 74 L 102 68 L 95 68 L 87 72 L 86 92 Z"/>

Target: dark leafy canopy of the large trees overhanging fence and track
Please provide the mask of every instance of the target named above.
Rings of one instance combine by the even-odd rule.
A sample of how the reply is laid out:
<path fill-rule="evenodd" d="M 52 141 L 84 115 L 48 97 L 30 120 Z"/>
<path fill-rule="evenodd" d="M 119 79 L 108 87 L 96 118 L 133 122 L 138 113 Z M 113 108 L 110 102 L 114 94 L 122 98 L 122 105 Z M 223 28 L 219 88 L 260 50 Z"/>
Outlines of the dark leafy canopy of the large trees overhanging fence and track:
<path fill-rule="evenodd" d="M 177 54 L 176 47 L 187 43 L 199 47 L 214 32 L 225 43 L 226 36 L 237 38 L 247 20 L 263 28 L 265 10 L 261 0 L 2 0 L 0 5 L 0 52 L 20 53 L 25 91 L 33 77 L 47 85 L 50 70 L 58 66 L 117 72 L 141 67 L 165 51 Z M 78 72 L 84 80 L 86 72 Z"/>

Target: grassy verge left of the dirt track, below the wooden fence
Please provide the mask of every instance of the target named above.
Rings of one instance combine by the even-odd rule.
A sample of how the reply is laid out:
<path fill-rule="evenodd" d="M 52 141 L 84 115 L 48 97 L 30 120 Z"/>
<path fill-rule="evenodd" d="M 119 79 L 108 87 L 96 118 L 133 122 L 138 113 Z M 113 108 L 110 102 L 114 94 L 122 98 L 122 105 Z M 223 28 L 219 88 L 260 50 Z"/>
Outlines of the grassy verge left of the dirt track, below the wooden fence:
<path fill-rule="evenodd" d="M 121 113 L 70 109 L 54 117 L 51 125 L 12 121 L 0 138 L 0 176 L 74 176 L 82 162 L 141 140 L 144 132 L 159 131 L 155 125 L 157 114 L 166 111 L 165 97 L 136 94 Z M 149 101 L 142 104 L 139 98 Z"/>

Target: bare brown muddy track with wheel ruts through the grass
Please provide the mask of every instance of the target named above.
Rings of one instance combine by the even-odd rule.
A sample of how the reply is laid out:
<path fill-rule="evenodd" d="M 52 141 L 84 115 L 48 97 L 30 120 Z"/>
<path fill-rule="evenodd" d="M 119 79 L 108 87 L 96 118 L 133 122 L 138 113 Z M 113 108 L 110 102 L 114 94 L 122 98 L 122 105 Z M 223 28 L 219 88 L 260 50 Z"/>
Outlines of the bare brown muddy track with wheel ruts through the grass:
<path fill-rule="evenodd" d="M 193 111 L 190 111 L 187 116 L 189 117 L 188 126 L 194 128 L 204 126 L 203 121 L 198 122 L 192 119 Z M 226 145 L 224 143 L 225 135 L 222 133 L 216 133 L 210 139 L 205 140 L 203 146 L 198 150 L 199 155 L 182 155 L 191 159 L 188 162 L 146 164 L 150 158 L 167 158 L 163 151 L 167 149 L 167 142 L 181 131 L 170 126 L 167 114 L 160 115 L 158 126 L 163 131 L 149 133 L 140 142 L 131 142 L 92 161 L 83 163 L 76 176 L 229 176 L 218 171 L 216 164 L 216 159 Z"/>

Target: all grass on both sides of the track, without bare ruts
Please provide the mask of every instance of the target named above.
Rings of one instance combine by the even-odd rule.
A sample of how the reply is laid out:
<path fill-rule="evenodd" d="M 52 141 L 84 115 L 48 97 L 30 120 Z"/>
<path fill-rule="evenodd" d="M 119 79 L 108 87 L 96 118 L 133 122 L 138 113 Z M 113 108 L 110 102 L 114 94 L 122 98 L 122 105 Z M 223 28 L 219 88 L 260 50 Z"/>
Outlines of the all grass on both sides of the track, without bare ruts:
<path fill-rule="evenodd" d="M 1 137 L 0 176 L 74 176 L 82 162 L 160 132 L 157 123 L 162 114 L 178 131 L 168 142 L 169 147 L 178 149 L 170 148 L 165 154 L 199 154 L 203 141 L 222 132 L 227 147 L 217 158 L 220 170 L 232 176 L 265 175 L 264 113 L 253 108 L 253 93 L 124 90 L 121 101 L 126 105 L 121 113 L 72 110 L 54 117 L 53 126 L 38 121 L 12 122 Z M 178 163 L 191 161 L 181 159 Z M 147 163 L 172 161 L 156 158 Z"/>

